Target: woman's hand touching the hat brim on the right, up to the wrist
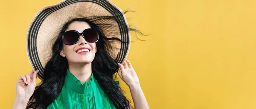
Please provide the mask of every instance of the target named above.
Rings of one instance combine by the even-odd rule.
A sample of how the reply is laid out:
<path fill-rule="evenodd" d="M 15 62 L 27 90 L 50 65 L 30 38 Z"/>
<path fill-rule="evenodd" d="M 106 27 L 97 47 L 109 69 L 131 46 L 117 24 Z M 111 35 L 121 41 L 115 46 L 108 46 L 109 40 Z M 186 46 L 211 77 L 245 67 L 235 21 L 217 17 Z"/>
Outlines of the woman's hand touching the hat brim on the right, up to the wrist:
<path fill-rule="evenodd" d="M 124 64 L 118 63 L 119 70 L 118 70 L 118 75 L 120 78 L 125 82 L 125 84 L 128 85 L 128 87 L 135 87 L 135 86 L 140 86 L 139 78 L 134 71 L 131 62 L 128 61 L 127 59 L 125 60 Z"/>

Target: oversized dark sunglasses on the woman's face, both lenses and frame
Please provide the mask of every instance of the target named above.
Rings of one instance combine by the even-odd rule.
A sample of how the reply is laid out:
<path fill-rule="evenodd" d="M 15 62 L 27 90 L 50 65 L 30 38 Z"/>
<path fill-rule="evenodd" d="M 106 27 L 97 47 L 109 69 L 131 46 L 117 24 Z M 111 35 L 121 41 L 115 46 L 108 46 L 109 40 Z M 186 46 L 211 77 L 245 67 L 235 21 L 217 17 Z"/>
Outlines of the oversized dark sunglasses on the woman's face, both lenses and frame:
<path fill-rule="evenodd" d="M 62 40 L 65 45 L 73 45 L 79 41 L 80 35 L 82 35 L 87 42 L 98 42 L 99 40 L 98 32 L 92 28 L 85 29 L 82 33 L 75 30 L 66 31 L 62 35 Z"/>

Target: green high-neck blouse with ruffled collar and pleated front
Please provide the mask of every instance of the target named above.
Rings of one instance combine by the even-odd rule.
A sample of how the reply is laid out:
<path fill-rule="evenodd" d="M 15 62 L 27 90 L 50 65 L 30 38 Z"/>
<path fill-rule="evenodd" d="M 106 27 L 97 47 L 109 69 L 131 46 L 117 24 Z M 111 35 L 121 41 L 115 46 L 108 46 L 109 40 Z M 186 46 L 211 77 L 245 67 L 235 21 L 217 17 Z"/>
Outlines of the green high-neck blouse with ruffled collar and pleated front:
<path fill-rule="evenodd" d="M 116 81 L 119 84 L 119 81 Z M 108 95 L 101 89 L 97 80 L 84 84 L 67 70 L 64 86 L 58 98 L 47 109 L 116 109 Z"/>

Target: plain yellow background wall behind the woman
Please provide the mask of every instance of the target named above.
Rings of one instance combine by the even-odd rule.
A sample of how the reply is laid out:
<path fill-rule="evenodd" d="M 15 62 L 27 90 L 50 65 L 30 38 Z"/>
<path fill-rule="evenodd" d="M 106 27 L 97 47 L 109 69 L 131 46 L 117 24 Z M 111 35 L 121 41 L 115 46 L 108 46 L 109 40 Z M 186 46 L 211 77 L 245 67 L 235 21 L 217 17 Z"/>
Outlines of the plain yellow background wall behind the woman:
<path fill-rule="evenodd" d="M 59 1 L 1 0 L 1 109 L 11 109 L 17 78 L 31 71 L 29 22 Z M 128 56 L 151 109 L 256 109 L 255 0 L 112 2 L 136 11 L 128 22 L 151 34 L 133 36 Z"/>

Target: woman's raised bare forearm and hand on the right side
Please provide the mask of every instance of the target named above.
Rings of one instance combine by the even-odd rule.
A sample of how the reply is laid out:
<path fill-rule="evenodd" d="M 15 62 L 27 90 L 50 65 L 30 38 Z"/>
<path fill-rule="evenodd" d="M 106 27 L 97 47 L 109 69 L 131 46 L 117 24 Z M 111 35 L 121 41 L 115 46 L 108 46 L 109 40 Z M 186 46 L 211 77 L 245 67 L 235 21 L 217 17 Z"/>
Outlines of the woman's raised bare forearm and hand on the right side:
<path fill-rule="evenodd" d="M 131 62 L 128 60 L 125 60 L 128 63 L 128 66 L 126 63 L 118 64 L 119 70 L 118 75 L 120 78 L 128 85 L 131 91 L 131 97 L 134 101 L 134 108 L 135 109 L 149 109 L 148 102 L 145 98 L 145 95 L 140 87 L 139 78 L 137 77 L 136 72 L 134 71 Z M 130 108 L 132 106 L 130 105 Z M 133 109 L 133 108 L 131 108 Z"/>

